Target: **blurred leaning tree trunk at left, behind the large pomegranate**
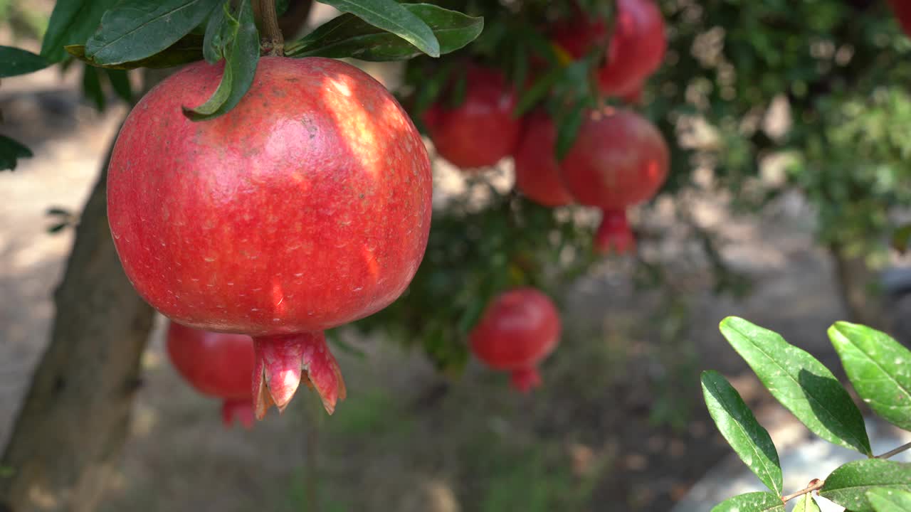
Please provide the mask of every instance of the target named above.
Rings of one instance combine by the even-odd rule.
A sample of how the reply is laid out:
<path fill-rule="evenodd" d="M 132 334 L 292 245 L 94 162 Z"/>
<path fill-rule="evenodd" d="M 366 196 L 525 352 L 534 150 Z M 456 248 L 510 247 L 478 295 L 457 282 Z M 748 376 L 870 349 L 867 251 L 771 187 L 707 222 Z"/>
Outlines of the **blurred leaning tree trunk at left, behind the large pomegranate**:
<path fill-rule="evenodd" d="M 120 267 L 106 182 L 107 160 L 54 295 L 50 345 L 0 462 L 4 512 L 93 509 L 128 434 L 152 309 Z"/>

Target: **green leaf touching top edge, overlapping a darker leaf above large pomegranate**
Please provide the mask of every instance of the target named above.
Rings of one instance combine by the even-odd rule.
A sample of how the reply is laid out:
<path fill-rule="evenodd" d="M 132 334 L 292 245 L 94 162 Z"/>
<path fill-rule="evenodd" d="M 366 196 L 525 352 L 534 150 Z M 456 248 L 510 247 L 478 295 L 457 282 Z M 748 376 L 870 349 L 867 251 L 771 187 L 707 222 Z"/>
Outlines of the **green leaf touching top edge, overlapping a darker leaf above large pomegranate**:
<path fill-rule="evenodd" d="M 440 42 L 421 18 L 395 0 L 320 0 L 343 13 L 403 38 L 429 56 L 440 56 Z"/>

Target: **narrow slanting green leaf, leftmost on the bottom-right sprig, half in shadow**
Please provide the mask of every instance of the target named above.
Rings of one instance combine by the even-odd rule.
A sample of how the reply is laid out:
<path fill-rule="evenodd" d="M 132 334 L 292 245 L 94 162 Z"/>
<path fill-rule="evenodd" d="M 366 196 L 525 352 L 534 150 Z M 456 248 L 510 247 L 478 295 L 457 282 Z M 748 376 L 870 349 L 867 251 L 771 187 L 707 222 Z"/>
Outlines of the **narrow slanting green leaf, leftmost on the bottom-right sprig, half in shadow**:
<path fill-rule="evenodd" d="M 724 439 L 765 486 L 781 495 L 782 466 L 768 431 L 722 374 L 702 372 L 701 381 L 705 404 Z"/>

